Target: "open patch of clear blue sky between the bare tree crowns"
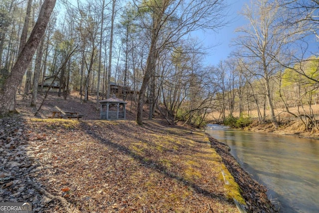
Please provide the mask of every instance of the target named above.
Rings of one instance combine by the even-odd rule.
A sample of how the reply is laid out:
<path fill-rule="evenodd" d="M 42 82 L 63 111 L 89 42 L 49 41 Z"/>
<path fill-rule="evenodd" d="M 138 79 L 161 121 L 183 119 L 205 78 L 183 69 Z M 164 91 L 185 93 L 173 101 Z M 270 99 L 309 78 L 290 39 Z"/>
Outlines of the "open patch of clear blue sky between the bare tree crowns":
<path fill-rule="evenodd" d="M 212 46 L 207 50 L 209 53 L 205 60 L 207 65 L 217 65 L 220 60 L 227 59 L 227 56 L 233 49 L 230 46 L 231 40 L 237 37 L 235 29 L 245 25 L 245 20 L 239 12 L 244 4 L 247 3 L 247 0 L 227 0 L 227 3 L 229 4 L 228 20 L 231 21 L 231 23 L 216 33 L 196 33 L 196 37 L 200 41 L 203 41 L 205 47 Z"/>

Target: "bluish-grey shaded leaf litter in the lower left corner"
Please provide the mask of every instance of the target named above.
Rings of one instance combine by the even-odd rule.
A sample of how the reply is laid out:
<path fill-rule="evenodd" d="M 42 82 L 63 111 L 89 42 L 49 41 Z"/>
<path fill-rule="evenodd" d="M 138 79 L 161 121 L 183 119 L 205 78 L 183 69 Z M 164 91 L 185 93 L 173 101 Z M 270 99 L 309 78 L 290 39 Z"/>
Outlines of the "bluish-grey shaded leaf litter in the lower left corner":
<path fill-rule="evenodd" d="M 0 149 L 0 202 L 29 203 L 32 204 L 32 212 L 45 212 L 42 199 L 48 193 L 41 188 L 35 173 L 47 173 L 48 168 L 34 159 L 33 152 L 29 150 L 32 144 L 41 145 L 44 136 L 31 132 L 21 117 L 0 119 L 0 129 L 0 142 L 3 140 Z M 51 204 L 57 206 L 57 201 Z M 62 211 L 68 212 L 69 204 L 64 208 Z"/>

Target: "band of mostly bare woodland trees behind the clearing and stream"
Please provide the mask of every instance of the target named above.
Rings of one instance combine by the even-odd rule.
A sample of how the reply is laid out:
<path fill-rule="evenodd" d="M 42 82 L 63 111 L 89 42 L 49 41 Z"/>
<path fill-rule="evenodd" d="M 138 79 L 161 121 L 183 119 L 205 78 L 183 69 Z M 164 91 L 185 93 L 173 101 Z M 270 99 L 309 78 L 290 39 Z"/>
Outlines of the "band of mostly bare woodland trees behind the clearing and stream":
<path fill-rule="evenodd" d="M 237 30 L 237 50 L 217 65 L 204 64 L 208 49 L 190 33 L 223 27 L 225 0 L 2 2 L 1 116 L 14 110 L 16 92 L 39 107 L 33 100 L 52 77 L 58 96 L 94 94 L 97 109 L 112 92 L 132 99 L 138 124 L 147 103 L 149 119 L 158 109 L 170 124 L 257 110 L 261 123 L 277 127 L 286 112 L 318 129 L 318 0 L 253 0 L 242 10 L 249 24 Z"/>

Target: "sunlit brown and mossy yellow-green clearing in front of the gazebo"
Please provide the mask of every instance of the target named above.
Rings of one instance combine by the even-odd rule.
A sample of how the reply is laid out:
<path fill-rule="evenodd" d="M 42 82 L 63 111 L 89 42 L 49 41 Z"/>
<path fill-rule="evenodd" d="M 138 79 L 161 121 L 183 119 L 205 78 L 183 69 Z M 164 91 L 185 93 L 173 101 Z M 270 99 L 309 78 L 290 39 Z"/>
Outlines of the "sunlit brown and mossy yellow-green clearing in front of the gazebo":
<path fill-rule="evenodd" d="M 225 187 L 221 171 L 231 175 L 202 133 L 166 133 L 155 121 L 146 128 L 133 121 L 61 119 L 27 125 L 30 158 L 58 169 L 39 171 L 35 180 L 53 195 L 70 188 L 66 200 L 80 212 L 200 213 L 208 204 L 216 212 L 237 211 L 232 199 L 241 198 L 239 189 Z M 54 206 L 43 211 L 54 208 L 63 212 Z"/>

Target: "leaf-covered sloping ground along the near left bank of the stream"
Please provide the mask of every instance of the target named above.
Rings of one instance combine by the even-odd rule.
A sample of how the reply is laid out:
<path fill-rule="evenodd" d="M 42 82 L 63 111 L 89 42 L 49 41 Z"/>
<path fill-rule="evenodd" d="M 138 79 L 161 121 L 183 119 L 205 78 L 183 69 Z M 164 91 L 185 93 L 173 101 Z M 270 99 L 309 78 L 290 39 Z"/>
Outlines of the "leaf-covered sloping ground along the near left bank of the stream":
<path fill-rule="evenodd" d="M 51 94 L 38 117 L 28 104 L 18 98 L 20 114 L 0 119 L 0 202 L 32 202 L 35 213 L 233 213 L 236 203 L 276 212 L 265 187 L 200 130 L 160 118 L 138 126 L 130 102 L 124 121 L 98 120 L 94 100 L 77 95 Z M 86 116 L 47 119 L 55 105 Z"/>

